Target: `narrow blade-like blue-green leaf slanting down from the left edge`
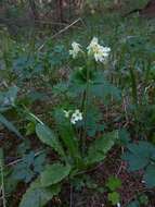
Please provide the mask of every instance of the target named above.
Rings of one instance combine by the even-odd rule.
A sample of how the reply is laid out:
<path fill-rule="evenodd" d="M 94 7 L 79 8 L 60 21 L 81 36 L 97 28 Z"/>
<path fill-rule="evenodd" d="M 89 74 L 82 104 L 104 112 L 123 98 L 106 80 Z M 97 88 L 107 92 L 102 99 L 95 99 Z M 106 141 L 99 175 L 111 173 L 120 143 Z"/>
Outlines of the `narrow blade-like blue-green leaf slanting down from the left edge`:
<path fill-rule="evenodd" d="M 3 124 L 9 131 L 15 133 L 20 138 L 23 138 L 18 130 L 10 121 L 8 121 L 1 113 L 0 113 L 0 123 Z"/>

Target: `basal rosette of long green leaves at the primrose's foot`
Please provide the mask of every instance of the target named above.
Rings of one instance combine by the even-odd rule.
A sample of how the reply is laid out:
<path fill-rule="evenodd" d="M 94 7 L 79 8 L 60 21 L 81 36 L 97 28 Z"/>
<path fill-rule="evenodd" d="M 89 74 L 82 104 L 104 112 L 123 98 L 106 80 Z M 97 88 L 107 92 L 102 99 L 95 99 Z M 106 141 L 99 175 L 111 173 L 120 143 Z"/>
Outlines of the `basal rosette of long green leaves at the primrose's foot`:
<path fill-rule="evenodd" d="M 38 190 L 40 187 L 40 193 L 41 191 L 42 193 L 44 192 L 44 196 L 48 190 L 47 187 L 52 187 L 53 190 L 54 185 L 59 186 L 64 179 L 65 180 L 68 178 L 73 179 L 74 176 L 76 178 L 76 175 L 78 175 L 79 173 L 85 173 L 89 168 L 92 168 L 95 163 L 102 161 L 105 158 L 106 153 L 111 149 L 111 147 L 114 145 L 115 141 L 117 139 L 117 132 L 103 135 L 102 137 L 98 138 L 94 143 L 90 145 L 90 147 L 88 148 L 88 153 L 82 158 L 77 148 L 77 141 L 76 139 L 74 141 L 72 131 L 68 130 L 69 129 L 65 129 L 66 132 L 65 134 L 63 134 L 65 135 L 64 138 L 67 142 L 62 139 L 64 142 L 65 147 L 67 147 L 67 154 L 66 154 L 65 149 L 63 148 L 62 144 L 59 141 L 59 137 L 53 133 L 52 130 L 50 130 L 48 126 L 46 126 L 42 123 L 38 123 L 36 126 L 36 132 L 38 134 L 38 137 L 44 144 L 49 145 L 55 151 L 57 151 L 57 154 L 61 156 L 60 159 L 62 160 L 62 162 L 48 165 L 46 167 L 46 170 L 40 173 L 37 188 L 36 187 L 35 188 Z M 34 191 L 31 193 L 29 191 L 31 192 L 31 190 L 27 190 L 27 193 L 24 195 L 23 200 L 21 203 L 21 207 L 27 206 L 27 202 L 31 199 L 30 197 L 33 196 L 31 193 L 34 193 Z M 42 198 L 40 197 L 40 199 Z"/>

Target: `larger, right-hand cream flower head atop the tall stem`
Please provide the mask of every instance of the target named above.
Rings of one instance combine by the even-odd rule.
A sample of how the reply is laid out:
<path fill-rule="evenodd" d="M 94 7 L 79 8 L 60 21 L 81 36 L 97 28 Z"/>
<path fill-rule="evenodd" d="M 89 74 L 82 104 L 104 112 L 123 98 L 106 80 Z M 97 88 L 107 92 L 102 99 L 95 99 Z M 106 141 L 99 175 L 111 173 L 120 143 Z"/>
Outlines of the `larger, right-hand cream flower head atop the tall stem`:
<path fill-rule="evenodd" d="M 88 54 L 93 56 L 96 62 L 104 62 L 111 52 L 111 48 L 99 45 L 96 37 L 93 37 L 87 49 Z"/>

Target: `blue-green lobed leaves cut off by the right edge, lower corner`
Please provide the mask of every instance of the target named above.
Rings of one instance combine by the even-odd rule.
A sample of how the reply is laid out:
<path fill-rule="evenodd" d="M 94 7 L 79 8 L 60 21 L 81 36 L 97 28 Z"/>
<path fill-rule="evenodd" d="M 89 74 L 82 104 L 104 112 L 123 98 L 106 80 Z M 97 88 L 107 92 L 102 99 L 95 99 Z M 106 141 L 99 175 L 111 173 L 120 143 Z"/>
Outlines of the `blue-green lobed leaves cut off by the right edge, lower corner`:
<path fill-rule="evenodd" d="M 128 161 L 130 171 L 143 170 L 143 181 L 147 187 L 155 186 L 155 147 L 148 142 L 139 141 L 127 145 L 122 159 Z"/>

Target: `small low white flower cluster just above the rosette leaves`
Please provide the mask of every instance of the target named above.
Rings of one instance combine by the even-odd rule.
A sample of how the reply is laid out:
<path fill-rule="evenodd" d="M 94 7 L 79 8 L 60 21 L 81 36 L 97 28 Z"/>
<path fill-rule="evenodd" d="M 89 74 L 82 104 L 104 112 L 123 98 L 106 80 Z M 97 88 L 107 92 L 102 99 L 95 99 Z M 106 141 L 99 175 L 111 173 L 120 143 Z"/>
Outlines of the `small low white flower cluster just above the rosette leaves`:
<path fill-rule="evenodd" d="M 82 113 L 79 109 L 76 109 L 74 112 L 64 110 L 65 118 L 70 118 L 70 123 L 76 124 L 78 121 L 82 120 Z"/>

